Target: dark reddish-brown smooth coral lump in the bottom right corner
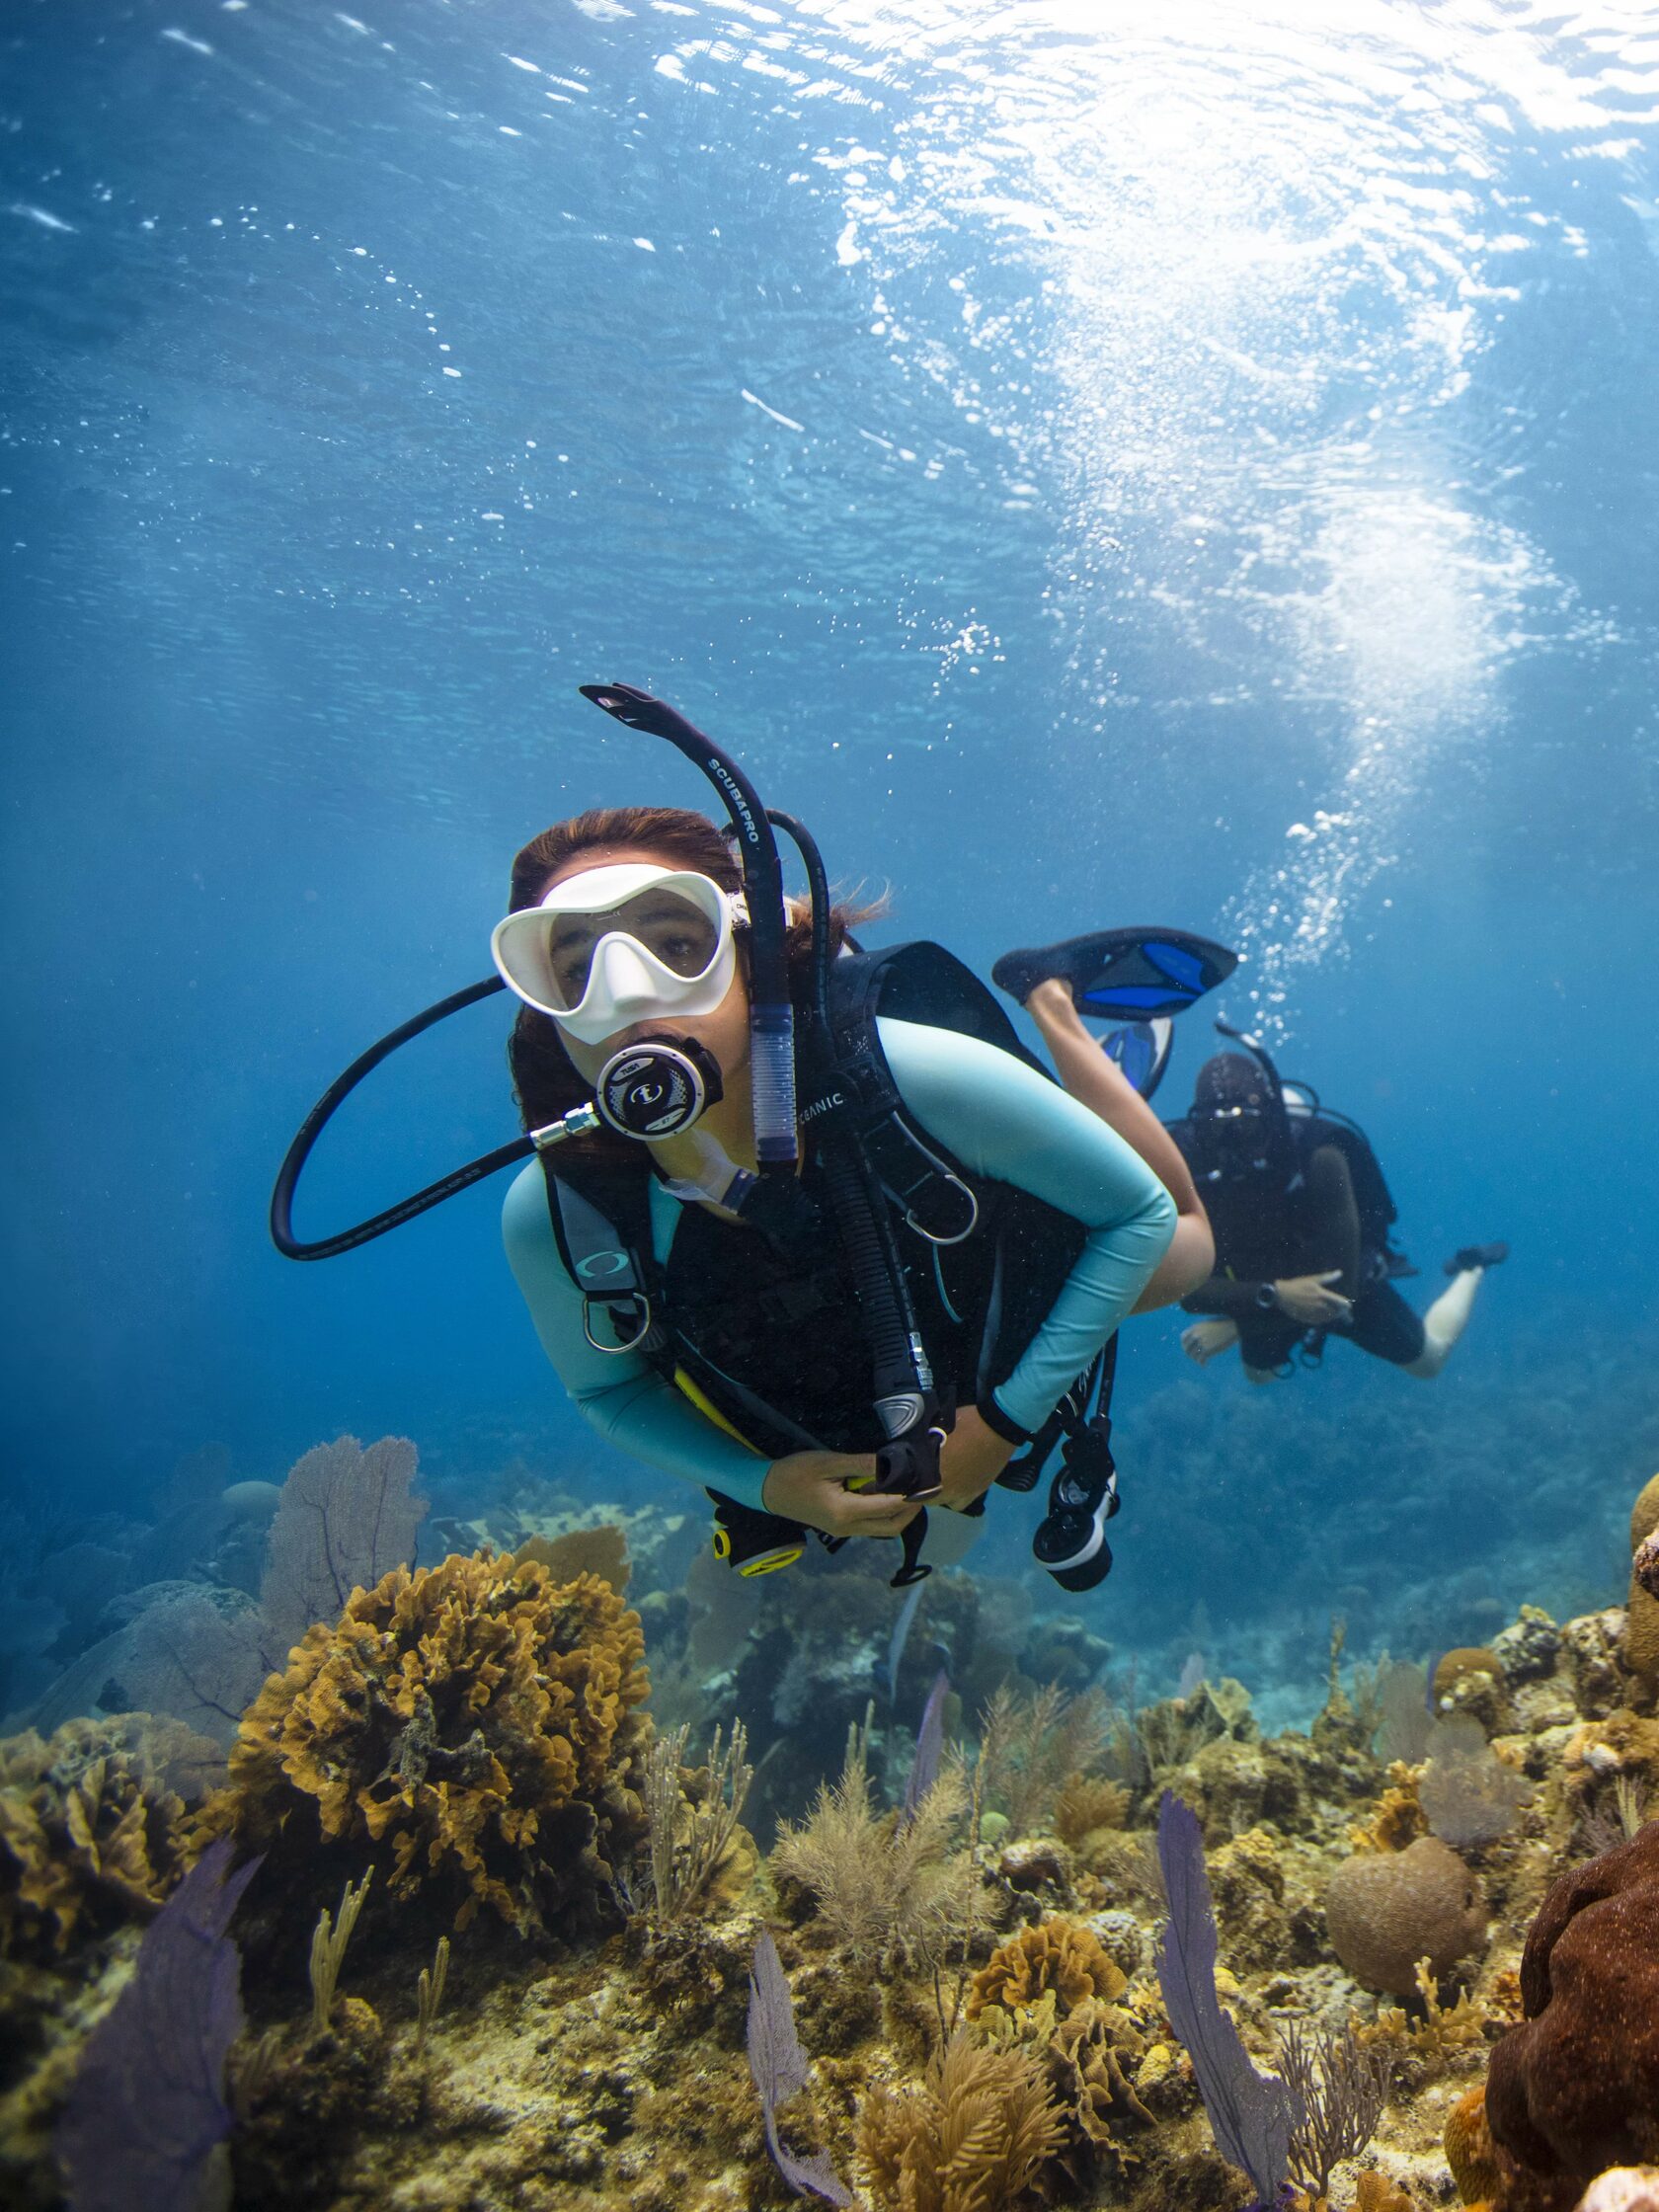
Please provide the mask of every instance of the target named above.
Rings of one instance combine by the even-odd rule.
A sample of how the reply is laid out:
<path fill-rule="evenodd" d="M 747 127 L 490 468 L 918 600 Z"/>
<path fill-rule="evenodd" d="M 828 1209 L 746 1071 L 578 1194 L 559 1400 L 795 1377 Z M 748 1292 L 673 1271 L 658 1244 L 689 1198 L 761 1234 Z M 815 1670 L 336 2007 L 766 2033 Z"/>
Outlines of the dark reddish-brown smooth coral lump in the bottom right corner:
<path fill-rule="evenodd" d="M 1493 2139 L 1573 2205 L 1604 2168 L 1659 2154 L 1659 1823 L 1564 1874 L 1522 1951 L 1526 2020 L 1486 2081 Z"/>

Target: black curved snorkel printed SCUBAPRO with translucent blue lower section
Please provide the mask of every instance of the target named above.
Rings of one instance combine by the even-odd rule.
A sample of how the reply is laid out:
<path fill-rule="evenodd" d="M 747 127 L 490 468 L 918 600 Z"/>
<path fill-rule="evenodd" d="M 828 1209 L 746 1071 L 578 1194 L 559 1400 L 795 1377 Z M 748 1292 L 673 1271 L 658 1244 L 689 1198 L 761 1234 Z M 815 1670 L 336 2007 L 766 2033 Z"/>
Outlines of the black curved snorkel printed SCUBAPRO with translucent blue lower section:
<path fill-rule="evenodd" d="M 584 699 L 628 730 L 661 737 L 701 768 L 721 794 L 743 865 L 750 909 L 750 1079 L 754 1084 L 754 1157 L 761 1175 L 794 1175 L 801 1146 L 794 1124 L 794 1004 L 790 1000 L 790 918 L 783 907 L 783 863 L 761 796 L 712 737 L 664 699 L 633 684 L 580 684 Z"/>

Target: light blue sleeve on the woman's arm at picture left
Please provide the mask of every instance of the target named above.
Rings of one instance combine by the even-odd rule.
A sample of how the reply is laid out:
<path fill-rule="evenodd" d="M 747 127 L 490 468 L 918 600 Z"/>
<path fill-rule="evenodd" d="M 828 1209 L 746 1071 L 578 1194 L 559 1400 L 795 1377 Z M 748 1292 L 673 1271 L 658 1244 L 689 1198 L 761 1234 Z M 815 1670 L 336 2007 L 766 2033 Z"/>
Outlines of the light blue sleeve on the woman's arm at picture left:
<path fill-rule="evenodd" d="M 507 1192 L 502 1243 L 542 1349 L 588 1427 L 646 1467 L 721 1491 L 759 1513 L 761 1484 L 772 1462 L 706 1420 L 637 1352 L 595 1352 L 588 1343 L 582 1292 L 564 1272 L 553 1243 L 546 1181 L 535 1159 Z"/>

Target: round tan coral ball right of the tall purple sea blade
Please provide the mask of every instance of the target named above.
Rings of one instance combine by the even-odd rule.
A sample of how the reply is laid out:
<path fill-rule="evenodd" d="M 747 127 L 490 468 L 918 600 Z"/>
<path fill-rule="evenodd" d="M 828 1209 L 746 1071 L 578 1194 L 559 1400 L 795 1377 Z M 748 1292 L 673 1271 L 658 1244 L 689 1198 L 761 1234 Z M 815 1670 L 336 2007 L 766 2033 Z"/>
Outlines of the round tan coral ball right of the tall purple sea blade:
<path fill-rule="evenodd" d="M 1440 1978 L 1486 1933 L 1486 1902 L 1469 1867 L 1436 1836 L 1405 1851 L 1347 1858 L 1325 1891 L 1332 1949 L 1367 1989 L 1409 1997 L 1416 1964 Z"/>

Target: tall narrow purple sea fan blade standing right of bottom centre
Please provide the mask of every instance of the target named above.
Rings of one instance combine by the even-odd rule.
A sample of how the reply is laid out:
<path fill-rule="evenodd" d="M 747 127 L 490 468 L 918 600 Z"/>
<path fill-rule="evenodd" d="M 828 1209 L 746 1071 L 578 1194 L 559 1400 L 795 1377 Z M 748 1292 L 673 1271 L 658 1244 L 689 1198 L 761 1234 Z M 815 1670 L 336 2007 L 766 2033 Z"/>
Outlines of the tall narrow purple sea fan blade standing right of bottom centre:
<path fill-rule="evenodd" d="M 1232 2017 L 1217 2002 L 1217 1927 L 1203 1829 L 1192 1807 L 1170 1790 L 1157 1809 L 1157 1858 L 1170 1900 L 1170 1918 L 1157 1940 L 1164 2011 L 1192 2059 L 1217 2150 L 1250 2174 L 1256 2199 L 1272 2205 L 1290 2172 L 1290 2137 L 1303 2106 L 1276 2075 L 1256 2073 Z"/>

